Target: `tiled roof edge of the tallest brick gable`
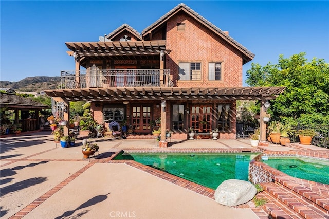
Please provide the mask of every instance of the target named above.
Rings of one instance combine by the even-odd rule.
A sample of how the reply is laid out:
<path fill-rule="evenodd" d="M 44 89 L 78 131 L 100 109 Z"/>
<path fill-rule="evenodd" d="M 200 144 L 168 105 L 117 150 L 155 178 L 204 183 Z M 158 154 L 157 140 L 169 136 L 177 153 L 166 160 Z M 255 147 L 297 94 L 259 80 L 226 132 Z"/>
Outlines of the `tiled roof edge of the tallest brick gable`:
<path fill-rule="evenodd" d="M 253 59 L 255 56 L 251 51 L 249 51 L 246 47 L 238 43 L 236 40 L 231 38 L 228 34 L 225 34 L 223 30 L 216 27 L 214 24 L 209 22 L 207 19 L 205 19 L 203 16 L 195 12 L 193 9 L 185 5 L 184 3 L 180 3 L 175 8 L 170 10 L 168 13 L 160 17 L 156 22 L 148 26 L 142 31 L 143 37 L 156 29 L 157 27 L 161 26 L 163 23 L 167 22 L 174 14 L 178 13 L 179 11 L 185 11 L 187 14 L 192 16 L 195 20 L 202 23 L 204 26 L 208 27 L 211 31 L 213 31 L 216 35 L 220 36 L 222 39 L 227 41 L 229 44 L 231 44 L 233 47 L 235 47 L 237 50 L 241 51 L 245 57 L 244 57 L 244 63 L 249 62 Z"/>

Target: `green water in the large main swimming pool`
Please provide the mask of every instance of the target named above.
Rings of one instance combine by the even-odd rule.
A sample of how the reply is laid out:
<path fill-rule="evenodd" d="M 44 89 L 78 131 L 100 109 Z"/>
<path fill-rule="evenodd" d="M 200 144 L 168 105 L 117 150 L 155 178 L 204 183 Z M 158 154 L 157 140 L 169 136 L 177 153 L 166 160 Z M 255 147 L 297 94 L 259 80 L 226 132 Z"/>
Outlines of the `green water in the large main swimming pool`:
<path fill-rule="evenodd" d="M 135 160 L 208 188 L 216 189 L 227 179 L 248 181 L 249 162 L 257 155 L 252 153 L 122 153 L 115 159 Z"/>

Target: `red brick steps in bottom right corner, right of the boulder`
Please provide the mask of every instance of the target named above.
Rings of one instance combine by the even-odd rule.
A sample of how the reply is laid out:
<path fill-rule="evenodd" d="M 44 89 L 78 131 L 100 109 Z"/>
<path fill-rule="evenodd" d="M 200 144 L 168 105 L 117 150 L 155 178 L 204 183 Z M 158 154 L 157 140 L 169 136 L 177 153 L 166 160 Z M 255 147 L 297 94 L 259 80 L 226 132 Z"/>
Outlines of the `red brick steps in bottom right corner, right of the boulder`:
<path fill-rule="evenodd" d="M 329 215 L 327 214 L 328 212 L 324 208 L 317 205 L 312 200 L 308 200 L 304 197 L 302 198 L 301 195 L 289 188 L 284 188 L 283 185 L 278 183 L 262 183 L 261 185 L 263 186 L 264 191 L 273 197 L 271 203 L 276 203 L 277 207 L 281 204 L 280 211 L 290 211 L 293 212 L 293 214 L 290 215 L 297 216 L 291 218 L 329 218 Z M 261 192 L 260 194 L 262 193 L 264 192 Z M 264 193 L 264 196 L 265 195 L 266 193 Z M 273 208 L 273 206 L 268 203 L 264 205 L 263 209 L 271 212 L 269 214 L 272 216 L 274 216 L 273 214 L 278 214 L 276 207 Z M 276 217 L 278 216 L 282 215 L 277 215 Z"/>

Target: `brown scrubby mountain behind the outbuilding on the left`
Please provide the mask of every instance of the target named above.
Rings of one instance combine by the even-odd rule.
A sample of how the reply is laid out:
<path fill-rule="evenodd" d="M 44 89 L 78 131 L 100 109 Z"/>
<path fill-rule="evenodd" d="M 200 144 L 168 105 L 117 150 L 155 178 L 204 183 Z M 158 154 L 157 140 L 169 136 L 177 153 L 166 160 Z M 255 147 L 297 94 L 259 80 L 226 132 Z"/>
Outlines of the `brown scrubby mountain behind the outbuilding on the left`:
<path fill-rule="evenodd" d="M 56 89 L 61 77 L 36 76 L 27 77 L 18 82 L 0 81 L 0 88 L 11 88 L 15 91 L 41 92 L 42 90 Z"/>

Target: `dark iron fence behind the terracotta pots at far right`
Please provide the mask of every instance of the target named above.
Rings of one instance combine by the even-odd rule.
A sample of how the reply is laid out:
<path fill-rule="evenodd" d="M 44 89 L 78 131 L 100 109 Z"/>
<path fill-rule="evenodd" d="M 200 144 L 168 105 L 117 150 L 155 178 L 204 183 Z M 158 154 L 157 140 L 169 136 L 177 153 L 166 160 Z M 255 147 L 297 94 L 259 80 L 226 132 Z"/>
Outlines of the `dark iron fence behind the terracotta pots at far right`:
<path fill-rule="evenodd" d="M 322 148 L 329 148 L 329 126 L 328 125 L 298 125 L 293 127 L 296 131 L 301 129 L 313 129 L 316 136 L 312 138 L 312 145 Z M 298 134 L 290 136 L 291 142 L 299 142 Z"/>

